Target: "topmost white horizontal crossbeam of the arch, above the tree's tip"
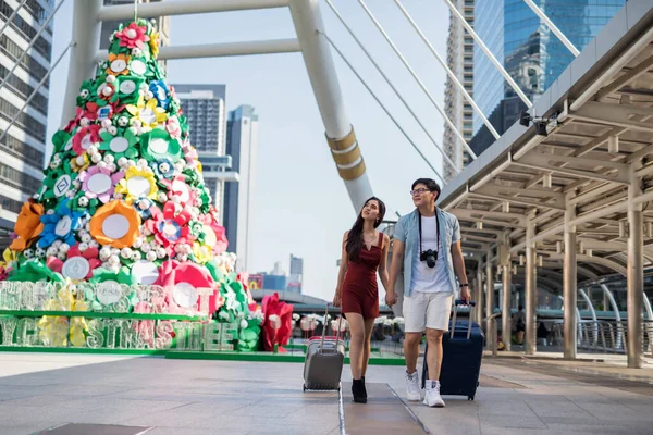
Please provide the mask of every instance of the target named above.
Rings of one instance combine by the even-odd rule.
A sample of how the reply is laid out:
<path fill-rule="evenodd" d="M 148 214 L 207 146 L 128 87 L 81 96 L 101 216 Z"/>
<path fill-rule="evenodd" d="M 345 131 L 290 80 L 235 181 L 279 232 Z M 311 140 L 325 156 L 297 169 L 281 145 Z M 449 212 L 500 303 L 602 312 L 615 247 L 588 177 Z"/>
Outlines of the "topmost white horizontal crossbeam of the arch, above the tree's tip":
<path fill-rule="evenodd" d="M 288 0 L 165 0 L 138 4 L 138 16 L 158 18 L 159 16 L 246 11 L 287 5 Z M 134 18 L 134 4 L 102 7 L 98 13 L 90 16 L 97 16 L 100 22 L 132 20 Z M 91 20 L 90 16 L 89 20 Z"/>

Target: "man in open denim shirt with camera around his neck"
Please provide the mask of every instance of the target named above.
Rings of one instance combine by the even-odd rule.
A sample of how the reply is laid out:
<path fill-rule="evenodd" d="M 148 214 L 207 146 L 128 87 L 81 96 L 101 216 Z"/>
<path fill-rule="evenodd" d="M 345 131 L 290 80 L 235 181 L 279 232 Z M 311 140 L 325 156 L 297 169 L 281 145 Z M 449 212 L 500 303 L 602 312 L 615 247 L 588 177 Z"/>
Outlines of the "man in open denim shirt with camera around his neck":
<path fill-rule="evenodd" d="M 406 358 L 406 394 L 408 400 L 420 400 L 417 358 L 422 333 L 427 332 L 424 405 L 444 407 L 440 396 L 442 334 L 448 330 L 451 308 L 457 289 L 469 303 L 469 285 L 460 249 L 460 226 L 451 213 L 435 208 L 440 186 L 430 178 L 419 178 L 410 190 L 416 210 L 402 216 L 394 228 L 390 288 L 385 302 L 392 307 L 397 298 L 394 284 L 404 262 L 404 355 Z M 455 273 L 455 275 L 454 275 Z"/>

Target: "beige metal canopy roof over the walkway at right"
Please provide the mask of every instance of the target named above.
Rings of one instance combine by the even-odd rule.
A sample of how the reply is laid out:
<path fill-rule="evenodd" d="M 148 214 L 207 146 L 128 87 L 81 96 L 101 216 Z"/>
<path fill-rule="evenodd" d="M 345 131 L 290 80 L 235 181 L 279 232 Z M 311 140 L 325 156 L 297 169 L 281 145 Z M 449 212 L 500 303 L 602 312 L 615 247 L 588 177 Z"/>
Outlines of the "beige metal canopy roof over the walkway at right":
<path fill-rule="evenodd" d="M 629 1 L 529 111 L 558 114 L 549 136 L 517 123 L 444 187 L 439 207 L 460 221 L 465 252 L 496 263 L 507 240 L 515 262 L 530 217 L 542 257 L 538 286 L 559 293 L 571 204 L 579 281 L 626 275 L 632 183 L 642 191 L 630 200 L 644 203 L 644 265 L 653 264 L 652 40 L 653 7 Z"/>

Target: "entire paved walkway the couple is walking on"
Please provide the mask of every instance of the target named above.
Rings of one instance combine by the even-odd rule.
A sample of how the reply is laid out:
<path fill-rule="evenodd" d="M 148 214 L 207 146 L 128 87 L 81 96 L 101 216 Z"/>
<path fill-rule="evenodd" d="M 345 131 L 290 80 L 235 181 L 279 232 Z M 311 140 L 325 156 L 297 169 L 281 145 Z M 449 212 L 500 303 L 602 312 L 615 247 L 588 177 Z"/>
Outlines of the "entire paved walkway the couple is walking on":
<path fill-rule="evenodd" d="M 301 374 L 297 363 L 0 353 L 0 434 L 65 423 L 175 435 L 341 433 L 338 395 L 303 393 Z M 343 382 L 349 381 L 345 369 Z M 653 427 L 653 369 L 485 359 L 476 400 L 445 397 L 444 409 L 405 407 L 394 396 L 403 396 L 402 368 L 372 366 L 366 381 L 368 405 L 350 403 L 343 391 L 347 434 L 397 433 L 401 424 L 407 433 L 423 425 L 436 434 L 483 435 L 645 434 Z"/>

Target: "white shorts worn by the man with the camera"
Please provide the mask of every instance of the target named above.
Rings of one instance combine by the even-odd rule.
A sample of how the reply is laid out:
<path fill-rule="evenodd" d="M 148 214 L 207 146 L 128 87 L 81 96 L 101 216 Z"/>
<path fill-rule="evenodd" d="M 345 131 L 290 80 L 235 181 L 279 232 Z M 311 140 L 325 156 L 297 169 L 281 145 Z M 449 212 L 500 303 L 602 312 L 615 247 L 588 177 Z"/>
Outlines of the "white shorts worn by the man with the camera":
<path fill-rule="evenodd" d="M 448 331 L 454 295 L 446 291 L 415 291 L 404 295 L 404 322 L 406 333 L 421 333 L 426 328 Z"/>

